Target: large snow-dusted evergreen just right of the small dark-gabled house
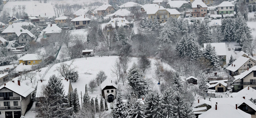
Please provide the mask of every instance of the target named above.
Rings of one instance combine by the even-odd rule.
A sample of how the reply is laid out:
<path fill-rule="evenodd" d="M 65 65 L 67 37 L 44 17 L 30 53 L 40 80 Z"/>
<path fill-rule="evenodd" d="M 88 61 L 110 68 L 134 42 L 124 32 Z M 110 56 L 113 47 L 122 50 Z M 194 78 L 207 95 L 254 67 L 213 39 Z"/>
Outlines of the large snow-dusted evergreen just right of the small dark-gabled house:
<path fill-rule="evenodd" d="M 147 82 L 143 78 L 140 70 L 137 68 L 136 63 L 133 63 L 132 68 L 128 73 L 128 84 L 132 87 L 132 90 L 140 97 L 141 95 L 147 94 Z"/>

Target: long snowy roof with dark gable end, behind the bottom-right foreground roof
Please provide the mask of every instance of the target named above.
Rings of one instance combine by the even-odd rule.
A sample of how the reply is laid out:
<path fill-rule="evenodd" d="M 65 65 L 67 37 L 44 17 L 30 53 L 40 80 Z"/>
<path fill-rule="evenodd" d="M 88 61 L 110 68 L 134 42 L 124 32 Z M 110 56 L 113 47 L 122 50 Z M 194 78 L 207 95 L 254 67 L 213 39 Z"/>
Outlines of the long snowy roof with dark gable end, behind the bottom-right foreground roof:
<path fill-rule="evenodd" d="M 243 97 L 240 98 L 212 98 L 212 107 L 215 107 L 216 102 L 218 103 L 218 105 L 224 105 L 224 104 L 229 104 L 232 105 L 234 107 L 239 107 L 240 105 L 242 105 L 243 103 L 247 104 L 249 107 L 251 107 L 253 110 L 256 111 L 256 105 L 254 103 L 252 103 L 250 100 L 248 99 L 244 99 Z"/>

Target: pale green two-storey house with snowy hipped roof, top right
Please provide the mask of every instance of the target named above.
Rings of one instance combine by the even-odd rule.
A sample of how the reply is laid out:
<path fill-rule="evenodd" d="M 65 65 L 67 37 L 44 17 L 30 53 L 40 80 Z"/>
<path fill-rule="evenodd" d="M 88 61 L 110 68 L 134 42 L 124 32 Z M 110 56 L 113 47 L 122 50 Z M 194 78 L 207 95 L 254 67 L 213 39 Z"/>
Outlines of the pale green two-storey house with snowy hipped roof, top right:
<path fill-rule="evenodd" d="M 219 14 L 234 14 L 235 5 L 229 1 L 224 1 L 218 5 Z"/>

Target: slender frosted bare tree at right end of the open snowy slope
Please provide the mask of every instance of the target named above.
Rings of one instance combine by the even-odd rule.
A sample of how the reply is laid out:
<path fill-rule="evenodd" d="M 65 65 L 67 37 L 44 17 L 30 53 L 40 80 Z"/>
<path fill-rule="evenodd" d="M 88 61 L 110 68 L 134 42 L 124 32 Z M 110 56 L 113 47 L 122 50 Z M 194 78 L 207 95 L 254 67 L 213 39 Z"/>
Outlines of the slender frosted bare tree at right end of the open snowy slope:
<path fill-rule="evenodd" d="M 162 63 L 160 63 L 159 61 L 155 61 L 154 63 L 155 65 L 155 75 L 153 75 L 153 78 L 158 81 L 158 83 L 160 84 L 160 82 L 163 80 L 163 72 L 164 72 L 164 68 Z"/>

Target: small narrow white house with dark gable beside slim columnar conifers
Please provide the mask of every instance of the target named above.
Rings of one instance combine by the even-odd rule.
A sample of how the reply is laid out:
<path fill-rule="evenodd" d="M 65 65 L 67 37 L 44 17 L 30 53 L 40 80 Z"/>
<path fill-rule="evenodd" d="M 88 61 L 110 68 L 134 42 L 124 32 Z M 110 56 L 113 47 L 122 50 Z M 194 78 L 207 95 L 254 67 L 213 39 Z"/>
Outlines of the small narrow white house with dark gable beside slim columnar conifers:
<path fill-rule="evenodd" d="M 100 84 L 100 88 L 101 88 L 101 94 L 103 96 L 104 99 L 107 99 L 108 102 L 112 102 L 113 100 L 116 99 L 116 89 L 117 86 L 115 83 L 112 83 L 107 79 L 105 79 L 101 84 Z"/>

